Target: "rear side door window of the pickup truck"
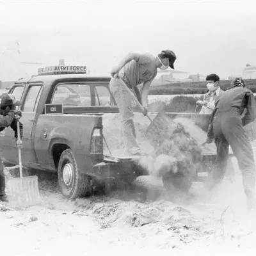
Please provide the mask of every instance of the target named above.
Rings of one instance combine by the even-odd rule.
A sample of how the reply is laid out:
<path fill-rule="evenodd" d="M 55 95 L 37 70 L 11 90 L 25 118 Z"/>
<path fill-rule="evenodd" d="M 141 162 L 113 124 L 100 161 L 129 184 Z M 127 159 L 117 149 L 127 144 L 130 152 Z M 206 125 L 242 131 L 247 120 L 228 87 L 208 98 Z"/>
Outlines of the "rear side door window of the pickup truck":
<path fill-rule="evenodd" d="M 41 92 L 41 85 L 33 85 L 29 87 L 23 106 L 23 112 L 35 112 Z"/>

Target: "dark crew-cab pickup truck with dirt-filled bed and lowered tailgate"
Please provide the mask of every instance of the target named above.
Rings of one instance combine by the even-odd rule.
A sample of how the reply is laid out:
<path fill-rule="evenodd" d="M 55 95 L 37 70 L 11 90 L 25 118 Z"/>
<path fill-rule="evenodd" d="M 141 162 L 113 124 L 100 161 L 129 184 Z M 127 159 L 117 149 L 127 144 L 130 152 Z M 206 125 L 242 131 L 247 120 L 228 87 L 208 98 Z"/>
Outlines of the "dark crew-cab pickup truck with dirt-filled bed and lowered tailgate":
<path fill-rule="evenodd" d="M 103 154 L 102 116 L 118 113 L 109 90 L 110 79 L 88 74 L 47 74 L 20 79 L 8 92 L 22 102 L 23 166 L 58 172 L 61 193 L 67 198 L 90 193 L 92 179 L 134 180 L 147 175 L 132 159 Z M 47 111 L 45 106 L 53 106 L 54 112 L 54 104 L 62 104 L 60 113 Z M 173 118 L 178 114 L 207 129 L 209 115 L 168 113 Z M 3 162 L 18 164 L 12 129 L 5 129 L 0 136 Z M 214 158 L 214 154 L 205 155 L 205 166 L 211 165 Z"/>

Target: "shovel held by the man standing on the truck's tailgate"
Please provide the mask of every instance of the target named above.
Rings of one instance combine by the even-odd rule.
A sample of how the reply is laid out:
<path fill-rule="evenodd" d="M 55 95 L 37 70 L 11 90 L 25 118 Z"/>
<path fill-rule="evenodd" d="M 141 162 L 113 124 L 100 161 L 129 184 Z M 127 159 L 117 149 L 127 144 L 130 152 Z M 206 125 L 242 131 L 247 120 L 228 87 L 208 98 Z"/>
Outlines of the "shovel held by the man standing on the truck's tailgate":
<path fill-rule="evenodd" d="M 122 79 L 120 80 L 122 81 Z M 122 81 L 122 84 L 125 86 L 127 92 L 131 95 L 132 99 L 134 99 L 140 108 L 141 113 L 143 113 L 145 108 L 143 108 L 137 97 L 131 92 L 131 90 L 129 90 L 124 81 Z M 164 113 L 164 111 L 159 111 L 154 120 L 152 120 L 148 114 L 145 116 L 147 116 L 148 120 L 150 121 L 150 125 L 148 125 L 148 128 L 145 131 L 145 137 L 148 141 L 150 141 L 152 146 L 156 148 L 163 142 L 163 140 L 168 140 L 170 136 L 172 136 L 177 124 L 173 122 L 172 119 Z"/>

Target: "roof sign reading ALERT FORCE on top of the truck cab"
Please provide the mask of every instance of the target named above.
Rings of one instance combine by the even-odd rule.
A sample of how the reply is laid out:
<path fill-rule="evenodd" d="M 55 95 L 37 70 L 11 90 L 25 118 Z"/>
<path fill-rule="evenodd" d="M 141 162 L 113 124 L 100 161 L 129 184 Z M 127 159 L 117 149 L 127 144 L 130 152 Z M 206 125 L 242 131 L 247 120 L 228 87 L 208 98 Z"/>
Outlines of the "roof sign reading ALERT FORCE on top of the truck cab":
<path fill-rule="evenodd" d="M 50 66 L 38 68 L 38 76 L 58 74 L 86 74 L 86 66 Z"/>

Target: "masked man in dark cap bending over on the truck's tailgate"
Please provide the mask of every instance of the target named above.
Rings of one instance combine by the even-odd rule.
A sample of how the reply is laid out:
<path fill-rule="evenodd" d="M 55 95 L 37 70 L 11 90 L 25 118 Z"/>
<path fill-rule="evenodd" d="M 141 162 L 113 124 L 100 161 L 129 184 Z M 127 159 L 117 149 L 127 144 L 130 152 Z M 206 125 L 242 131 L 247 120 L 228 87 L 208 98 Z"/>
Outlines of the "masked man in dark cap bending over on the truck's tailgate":
<path fill-rule="evenodd" d="M 120 115 L 122 116 L 122 129 L 124 132 L 124 154 L 129 156 L 141 156 L 140 147 L 136 141 L 136 132 L 132 119 L 132 97 L 127 92 L 124 83 L 132 90 L 141 105 L 143 114 L 147 114 L 147 99 L 149 86 L 157 75 L 157 68 L 166 70 L 174 69 L 173 63 L 176 55 L 173 51 L 161 51 L 157 56 L 148 53 L 130 53 L 111 70 L 110 90 L 115 97 Z M 141 92 L 138 85 L 143 83 Z"/>

